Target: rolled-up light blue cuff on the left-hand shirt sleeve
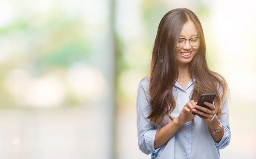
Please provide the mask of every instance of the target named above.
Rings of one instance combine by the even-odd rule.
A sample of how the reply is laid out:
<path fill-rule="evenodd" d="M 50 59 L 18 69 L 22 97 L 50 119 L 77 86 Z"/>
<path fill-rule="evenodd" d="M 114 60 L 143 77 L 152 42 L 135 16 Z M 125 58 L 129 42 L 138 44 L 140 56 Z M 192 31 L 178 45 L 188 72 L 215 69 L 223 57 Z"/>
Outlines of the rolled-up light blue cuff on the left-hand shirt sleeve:
<path fill-rule="evenodd" d="M 155 140 L 155 136 L 157 133 L 158 129 L 156 130 L 149 130 L 146 133 L 144 133 L 144 139 L 145 139 L 145 143 L 146 143 L 146 147 L 148 150 L 150 150 L 153 153 L 157 153 L 157 151 L 162 148 L 162 146 L 160 148 L 157 148 L 156 150 L 154 149 L 154 140 Z"/>

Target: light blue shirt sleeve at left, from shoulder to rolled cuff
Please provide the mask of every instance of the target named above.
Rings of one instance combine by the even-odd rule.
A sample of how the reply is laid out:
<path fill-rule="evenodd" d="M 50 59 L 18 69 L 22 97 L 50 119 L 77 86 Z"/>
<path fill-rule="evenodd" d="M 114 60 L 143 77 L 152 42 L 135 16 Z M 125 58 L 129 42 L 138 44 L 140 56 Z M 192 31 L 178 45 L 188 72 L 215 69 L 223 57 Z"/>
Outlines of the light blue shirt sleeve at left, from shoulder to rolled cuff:
<path fill-rule="evenodd" d="M 161 148 L 154 149 L 155 135 L 158 129 L 155 129 L 154 124 L 146 119 L 151 112 L 151 105 L 148 102 L 148 85 L 147 80 L 142 80 L 137 90 L 137 131 L 139 148 L 145 154 L 157 153 Z"/>

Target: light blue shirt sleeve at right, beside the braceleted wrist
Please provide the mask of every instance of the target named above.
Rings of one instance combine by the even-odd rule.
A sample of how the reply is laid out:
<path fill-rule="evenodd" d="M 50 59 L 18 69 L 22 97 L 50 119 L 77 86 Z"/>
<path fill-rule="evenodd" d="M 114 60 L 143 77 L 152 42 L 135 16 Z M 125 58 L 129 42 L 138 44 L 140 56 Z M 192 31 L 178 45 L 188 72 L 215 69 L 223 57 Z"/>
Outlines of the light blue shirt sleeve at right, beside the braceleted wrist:
<path fill-rule="evenodd" d="M 221 121 L 224 128 L 224 135 L 220 142 L 215 142 L 215 145 L 218 149 L 224 149 L 229 145 L 231 139 L 227 98 L 224 100 L 222 105 L 222 116 L 218 117 L 218 119 Z"/>

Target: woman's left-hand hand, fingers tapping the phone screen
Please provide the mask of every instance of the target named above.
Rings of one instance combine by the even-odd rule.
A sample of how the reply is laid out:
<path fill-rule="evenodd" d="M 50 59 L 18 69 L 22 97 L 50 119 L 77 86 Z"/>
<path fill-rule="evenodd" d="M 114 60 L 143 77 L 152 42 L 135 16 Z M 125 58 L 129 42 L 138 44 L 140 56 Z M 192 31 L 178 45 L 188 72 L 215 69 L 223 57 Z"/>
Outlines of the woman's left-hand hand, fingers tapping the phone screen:
<path fill-rule="evenodd" d="M 186 105 L 184 105 L 182 111 L 180 112 L 180 115 L 177 117 L 179 125 L 183 125 L 195 117 L 195 115 L 192 114 L 192 109 L 195 108 L 196 104 L 197 102 L 192 100 L 190 102 L 187 102 Z"/>

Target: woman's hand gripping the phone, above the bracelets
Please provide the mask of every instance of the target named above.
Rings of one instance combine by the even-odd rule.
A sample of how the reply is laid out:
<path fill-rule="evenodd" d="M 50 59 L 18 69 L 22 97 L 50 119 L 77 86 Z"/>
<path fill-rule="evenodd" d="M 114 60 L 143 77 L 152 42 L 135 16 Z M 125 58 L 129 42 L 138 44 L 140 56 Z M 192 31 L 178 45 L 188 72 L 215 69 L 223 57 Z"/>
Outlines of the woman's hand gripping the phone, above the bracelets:
<path fill-rule="evenodd" d="M 204 102 L 204 104 L 207 105 L 210 109 L 204 108 L 204 107 L 199 106 L 199 105 L 196 105 L 195 108 L 200 109 L 203 112 L 198 111 L 196 109 L 192 109 L 192 111 L 197 113 L 197 115 L 199 117 L 201 117 L 204 121 L 211 122 L 213 116 L 215 116 L 216 108 L 215 108 L 214 104 L 211 104 L 211 103 L 208 103 L 208 102 Z"/>

